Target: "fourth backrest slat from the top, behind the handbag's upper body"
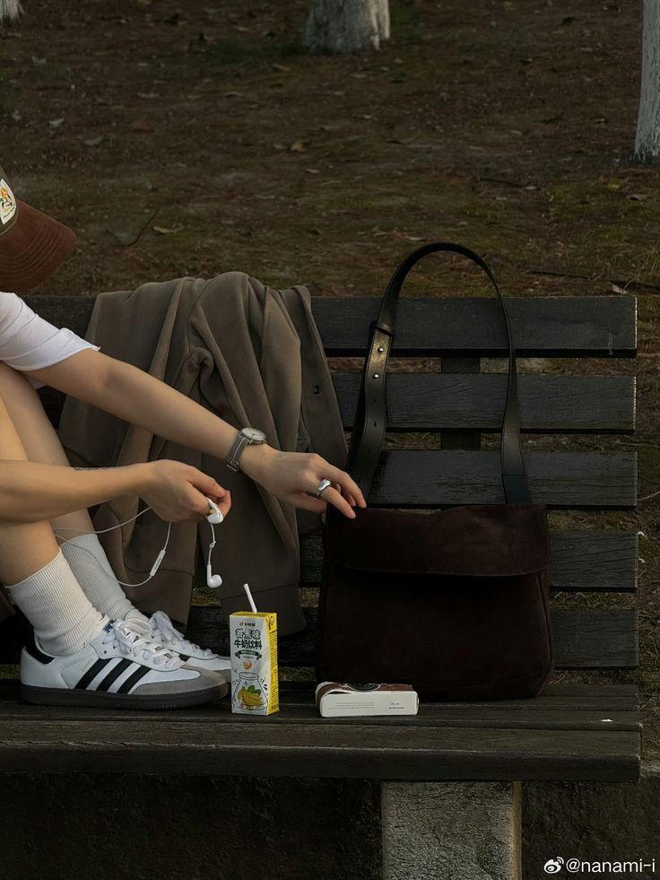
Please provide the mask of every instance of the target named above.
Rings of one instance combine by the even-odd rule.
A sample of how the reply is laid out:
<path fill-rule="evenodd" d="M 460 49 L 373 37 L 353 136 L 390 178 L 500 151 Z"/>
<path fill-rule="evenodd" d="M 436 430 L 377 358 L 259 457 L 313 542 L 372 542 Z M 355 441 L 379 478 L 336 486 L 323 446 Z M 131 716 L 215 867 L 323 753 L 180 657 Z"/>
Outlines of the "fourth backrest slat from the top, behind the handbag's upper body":
<path fill-rule="evenodd" d="M 551 532 L 551 588 L 566 592 L 632 592 L 637 588 L 638 536 L 634 532 Z M 320 535 L 300 537 L 301 579 L 321 580 Z"/>

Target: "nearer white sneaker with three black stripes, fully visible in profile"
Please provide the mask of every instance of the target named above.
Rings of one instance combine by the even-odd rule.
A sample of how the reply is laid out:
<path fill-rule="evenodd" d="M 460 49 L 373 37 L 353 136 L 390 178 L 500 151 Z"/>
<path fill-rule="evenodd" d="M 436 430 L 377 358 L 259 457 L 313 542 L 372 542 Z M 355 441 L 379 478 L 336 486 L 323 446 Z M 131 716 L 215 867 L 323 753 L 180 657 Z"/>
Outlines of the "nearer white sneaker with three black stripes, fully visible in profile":
<path fill-rule="evenodd" d="M 50 706 L 176 709 L 224 696 L 228 688 L 184 666 L 138 620 L 108 621 L 75 654 L 49 654 L 35 637 L 22 649 L 24 700 Z"/>

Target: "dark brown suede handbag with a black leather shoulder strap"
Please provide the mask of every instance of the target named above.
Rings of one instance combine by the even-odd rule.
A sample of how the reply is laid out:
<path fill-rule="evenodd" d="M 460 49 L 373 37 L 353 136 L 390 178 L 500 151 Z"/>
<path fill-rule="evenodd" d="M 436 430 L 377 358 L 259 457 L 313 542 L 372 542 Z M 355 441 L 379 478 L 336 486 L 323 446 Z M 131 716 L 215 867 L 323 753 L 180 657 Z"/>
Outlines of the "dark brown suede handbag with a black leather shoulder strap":
<path fill-rule="evenodd" d="M 504 503 L 446 510 L 328 505 L 317 620 L 317 679 L 412 684 L 423 700 L 541 693 L 554 664 L 545 507 L 533 504 L 520 446 L 516 353 L 490 268 L 461 245 L 417 248 L 392 277 L 371 324 L 346 470 L 369 505 L 386 430 L 385 376 L 396 307 L 412 266 L 434 251 L 469 257 L 499 297 L 508 337 L 502 423 Z"/>

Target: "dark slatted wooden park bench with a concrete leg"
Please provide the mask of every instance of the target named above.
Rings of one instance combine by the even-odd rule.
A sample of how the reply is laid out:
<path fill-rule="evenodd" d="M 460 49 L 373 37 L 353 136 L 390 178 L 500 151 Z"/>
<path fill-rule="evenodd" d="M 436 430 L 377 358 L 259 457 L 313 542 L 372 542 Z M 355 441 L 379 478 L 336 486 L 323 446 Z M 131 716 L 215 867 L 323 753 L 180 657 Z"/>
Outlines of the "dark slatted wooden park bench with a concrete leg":
<path fill-rule="evenodd" d="M 85 334 L 91 297 L 27 300 L 44 318 Z M 314 299 L 328 356 L 364 354 L 379 301 Z M 632 297 L 509 297 L 508 308 L 521 358 L 635 357 Z M 427 508 L 502 501 L 498 453 L 480 449 L 482 433 L 499 431 L 505 391 L 503 375 L 480 372 L 482 358 L 505 353 L 497 309 L 490 298 L 402 299 L 387 378 L 388 428 L 441 432 L 441 449 L 386 451 L 371 504 Z M 429 358 L 439 357 L 441 371 L 396 372 L 396 356 L 427 359 L 427 368 Z M 359 373 L 334 373 L 347 429 L 359 379 Z M 530 372 L 520 387 L 523 430 L 530 434 L 634 430 L 631 377 Z M 49 389 L 41 393 L 56 423 L 60 396 Z M 535 501 L 553 510 L 634 507 L 634 454 L 556 445 L 559 451 L 525 444 Z M 589 527 L 552 533 L 553 597 L 633 592 L 636 534 L 603 528 L 597 516 L 587 519 Z M 308 536 L 302 541 L 308 629 L 279 646 L 281 667 L 307 669 L 308 684 L 282 685 L 279 714 L 232 716 L 227 700 L 169 713 L 52 710 L 23 704 L 16 684 L 9 683 L 0 693 L 0 770 L 69 773 L 101 766 L 106 773 L 380 780 L 387 880 L 466 876 L 467 867 L 486 858 L 480 850 L 486 840 L 489 876 L 517 877 L 522 781 L 638 780 L 641 730 L 632 684 L 560 681 L 534 700 L 424 704 L 415 718 L 321 719 L 311 681 L 316 609 L 309 600 L 316 595 L 321 561 L 320 536 Z M 637 665 L 633 609 L 621 603 L 559 604 L 552 614 L 557 678 L 568 677 L 563 670 L 606 673 Z M 188 636 L 229 652 L 219 607 L 195 606 Z M 21 639 L 17 618 L 0 626 L 0 662 L 17 661 Z"/>

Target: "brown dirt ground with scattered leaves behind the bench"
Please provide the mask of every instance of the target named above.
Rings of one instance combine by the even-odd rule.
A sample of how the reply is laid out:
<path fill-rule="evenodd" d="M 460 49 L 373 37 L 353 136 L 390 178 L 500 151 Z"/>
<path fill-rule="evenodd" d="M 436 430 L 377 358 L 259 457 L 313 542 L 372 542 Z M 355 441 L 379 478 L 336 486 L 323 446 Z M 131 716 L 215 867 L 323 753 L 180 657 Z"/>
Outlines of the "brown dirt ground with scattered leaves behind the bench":
<path fill-rule="evenodd" d="M 660 177 L 630 165 L 641 4 L 393 0 L 391 41 L 360 57 L 308 56 L 305 0 L 24 5 L 0 29 L 0 164 L 80 236 L 46 292 L 243 269 L 379 294 L 406 250 L 448 239 L 489 257 L 510 294 L 634 293 L 638 361 L 580 369 L 637 372 L 638 431 L 569 448 L 634 448 L 640 496 L 660 489 Z M 458 289 L 483 290 L 436 262 L 407 290 Z M 657 502 L 555 516 L 646 536 L 641 667 L 622 677 L 642 685 L 647 754 L 660 748 Z"/>

